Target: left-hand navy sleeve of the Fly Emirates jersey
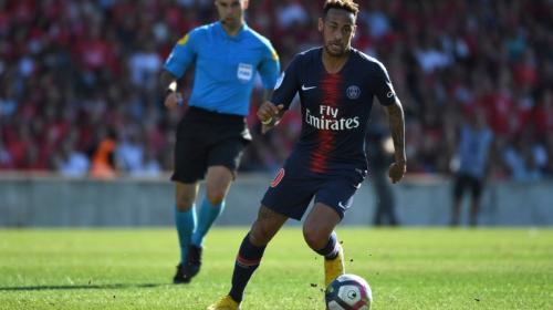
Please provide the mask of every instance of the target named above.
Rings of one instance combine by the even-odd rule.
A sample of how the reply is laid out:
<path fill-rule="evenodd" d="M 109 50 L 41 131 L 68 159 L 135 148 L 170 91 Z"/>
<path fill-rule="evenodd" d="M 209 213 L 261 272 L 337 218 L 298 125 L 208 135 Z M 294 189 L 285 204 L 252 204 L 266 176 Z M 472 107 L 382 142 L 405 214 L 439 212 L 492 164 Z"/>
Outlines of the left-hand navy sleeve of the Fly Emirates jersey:
<path fill-rule="evenodd" d="M 290 107 L 292 100 L 300 89 L 300 65 L 301 58 L 300 55 L 296 55 L 292 62 L 290 62 L 286 70 L 282 72 L 276 81 L 276 85 L 274 85 L 274 92 L 271 97 L 271 102 L 273 104 L 283 104 L 284 110 Z"/>

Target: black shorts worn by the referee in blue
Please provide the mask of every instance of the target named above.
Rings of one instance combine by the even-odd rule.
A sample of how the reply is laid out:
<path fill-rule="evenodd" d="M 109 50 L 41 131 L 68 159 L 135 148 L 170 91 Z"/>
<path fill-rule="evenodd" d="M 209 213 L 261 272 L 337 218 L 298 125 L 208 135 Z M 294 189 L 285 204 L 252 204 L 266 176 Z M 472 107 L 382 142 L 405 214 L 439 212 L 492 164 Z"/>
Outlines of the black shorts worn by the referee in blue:
<path fill-rule="evenodd" d="M 243 116 L 190 106 L 177 127 L 171 180 L 195 183 L 210 166 L 225 166 L 236 176 L 250 141 Z"/>

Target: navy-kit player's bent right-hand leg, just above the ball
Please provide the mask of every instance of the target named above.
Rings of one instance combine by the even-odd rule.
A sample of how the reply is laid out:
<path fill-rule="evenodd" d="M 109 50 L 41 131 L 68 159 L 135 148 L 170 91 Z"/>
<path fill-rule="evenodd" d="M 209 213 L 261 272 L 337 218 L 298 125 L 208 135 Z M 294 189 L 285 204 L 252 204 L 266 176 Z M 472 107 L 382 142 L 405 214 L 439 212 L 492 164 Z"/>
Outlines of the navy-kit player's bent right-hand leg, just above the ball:
<path fill-rule="evenodd" d="M 316 203 L 303 224 L 303 237 L 311 249 L 324 257 L 324 285 L 344 273 L 344 254 L 334 228 L 342 220 L 336 210 Z"/>

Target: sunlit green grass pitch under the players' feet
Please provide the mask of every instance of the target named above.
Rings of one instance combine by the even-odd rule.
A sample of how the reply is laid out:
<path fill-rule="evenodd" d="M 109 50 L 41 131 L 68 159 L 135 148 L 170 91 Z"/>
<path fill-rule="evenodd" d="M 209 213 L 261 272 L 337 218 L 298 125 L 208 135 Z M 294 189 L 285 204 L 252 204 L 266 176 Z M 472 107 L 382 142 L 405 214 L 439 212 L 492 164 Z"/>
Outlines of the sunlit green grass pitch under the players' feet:
<path fill-rule="evenodd" d="M 553 309 L 553 230 L 338 227 L 372 309 Z M 170 280 L 176 232 L 0 230 L 0 309 L 205 309 L 228 292 L 246 228 L 216 228 L 190 285 Z M 265 251 L 242 309 L 324 309 L 323 261 L 301 230 Z"/>

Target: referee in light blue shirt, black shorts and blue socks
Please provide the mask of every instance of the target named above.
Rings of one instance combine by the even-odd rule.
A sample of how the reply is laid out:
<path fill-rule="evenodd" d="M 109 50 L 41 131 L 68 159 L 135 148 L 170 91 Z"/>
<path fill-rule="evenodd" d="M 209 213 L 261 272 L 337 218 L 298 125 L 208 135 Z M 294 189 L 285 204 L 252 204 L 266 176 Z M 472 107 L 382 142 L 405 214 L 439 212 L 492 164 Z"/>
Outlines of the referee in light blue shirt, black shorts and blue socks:
<path fill-rule="evenodd" d="M 171 176 L 180 246 L 175 283 L 187 283 L 198 273 L 204 237 L 225 208 L 243 148 L 251 141 L 244 116 L 255 73 L 260 73 L 264 89 L 272 91 L 280 72 L 269 40 L 244 21 L 248 0 L 216 0 L 215 6 L 220 20 L 182 37 L 160 76 L 165 106 L 175 108 L 182 104 L 177 80 L 196 65 L 189 108 L 177 127 Z M 206 197 L 197 217 L 195 200 L 204 177 Z"/>

